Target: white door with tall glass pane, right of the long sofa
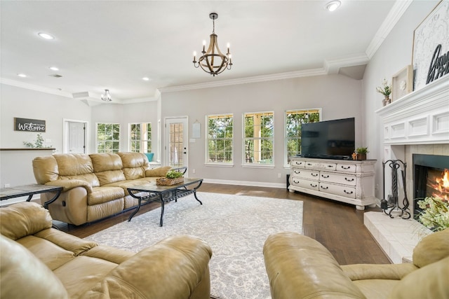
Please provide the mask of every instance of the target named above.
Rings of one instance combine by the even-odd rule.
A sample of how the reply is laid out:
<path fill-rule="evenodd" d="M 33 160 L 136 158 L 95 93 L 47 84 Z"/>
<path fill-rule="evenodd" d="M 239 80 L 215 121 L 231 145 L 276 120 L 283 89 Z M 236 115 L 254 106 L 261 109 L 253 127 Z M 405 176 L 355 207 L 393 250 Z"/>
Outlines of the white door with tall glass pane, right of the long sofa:
<path fill-rule="evenodd" d="M 166 118 L 165 128 L 165 164 L 171 167 L 187 167 L 189 165 L 189 126 L 187 117 Z"/>

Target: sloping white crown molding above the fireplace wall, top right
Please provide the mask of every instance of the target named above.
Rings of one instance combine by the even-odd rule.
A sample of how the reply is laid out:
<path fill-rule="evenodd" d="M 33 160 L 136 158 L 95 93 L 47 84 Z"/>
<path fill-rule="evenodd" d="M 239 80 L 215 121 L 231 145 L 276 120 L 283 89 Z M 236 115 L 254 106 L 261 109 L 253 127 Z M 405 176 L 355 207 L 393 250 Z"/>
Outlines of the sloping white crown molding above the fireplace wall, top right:
<path fill-rule="evenodd" d="M 368 59 L 371 59 L 375 55 L 377 49 L 382 45 L 388 34 L 391 32 L 391 29 L 393 29 L 398 20 L 402 18 L 402 15 L 406 12 L 408 6 L 410 6 L 412 2 L 413 0 L 398 0 L 394 2 L 387 18 L 382 22 L 382 25 L 380 25 L 373 40 L 371 40 L 370 45 L 366 48 Z"/>

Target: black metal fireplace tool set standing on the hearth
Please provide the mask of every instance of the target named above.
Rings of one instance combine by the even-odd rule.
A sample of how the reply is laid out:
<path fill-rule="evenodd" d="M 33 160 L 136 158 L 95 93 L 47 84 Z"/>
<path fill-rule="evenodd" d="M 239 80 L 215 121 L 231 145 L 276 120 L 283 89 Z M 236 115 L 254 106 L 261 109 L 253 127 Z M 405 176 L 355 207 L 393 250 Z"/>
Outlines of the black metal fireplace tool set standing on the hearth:
<path fill-rule="evenodd" d="M 390 216 L 390 218 L 394 218 L 391 214 L 394 211 L 397 211 L 399 217 L 403 219 L 409 219 L 411 217 L 410 211 L 408 209 L 409 202 L 407 198 L 407 188 L 406 188 L 406 168 L 407 163 L 404 163 L 401 160 L 387 160 L 386 162 L 382 162 L 382 166 L 384 168 L 383 176 L 384 176 L 384 195 L 385 195 L 385 168 L 388 166 L 391 168 L 391 194 L 388 195 L 388 199 L 380 201 L 380 208 L 384 211 L 385 214 Z M 402 207 L 398 204 L 398 172 L 401 172 L 403 190 L 404 190 L 404 198 L 402 201 Z"/>

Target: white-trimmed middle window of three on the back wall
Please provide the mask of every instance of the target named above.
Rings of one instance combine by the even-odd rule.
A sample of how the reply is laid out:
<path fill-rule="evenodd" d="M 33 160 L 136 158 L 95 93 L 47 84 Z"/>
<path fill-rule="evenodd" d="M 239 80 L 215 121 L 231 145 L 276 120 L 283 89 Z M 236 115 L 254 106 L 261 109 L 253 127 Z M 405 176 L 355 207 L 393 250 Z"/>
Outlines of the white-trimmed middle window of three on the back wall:
<path fill-rule="evenodd" d="M 274 113 L 243 113 L 243 163 L 273 164 Z"/>

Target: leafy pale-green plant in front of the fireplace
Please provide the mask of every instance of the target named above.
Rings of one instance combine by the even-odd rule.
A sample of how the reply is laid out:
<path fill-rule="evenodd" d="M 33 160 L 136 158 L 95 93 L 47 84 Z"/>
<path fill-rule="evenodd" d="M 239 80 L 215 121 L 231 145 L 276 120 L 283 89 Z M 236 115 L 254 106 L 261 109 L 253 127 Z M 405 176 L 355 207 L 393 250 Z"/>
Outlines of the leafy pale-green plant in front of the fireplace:
<path fill-rule="evenodd" d="M 417 201 L 421 211 L 416 220 L 434 232 L 449 228 L 449 202 L 441 197 L 425 197 Z"/>

